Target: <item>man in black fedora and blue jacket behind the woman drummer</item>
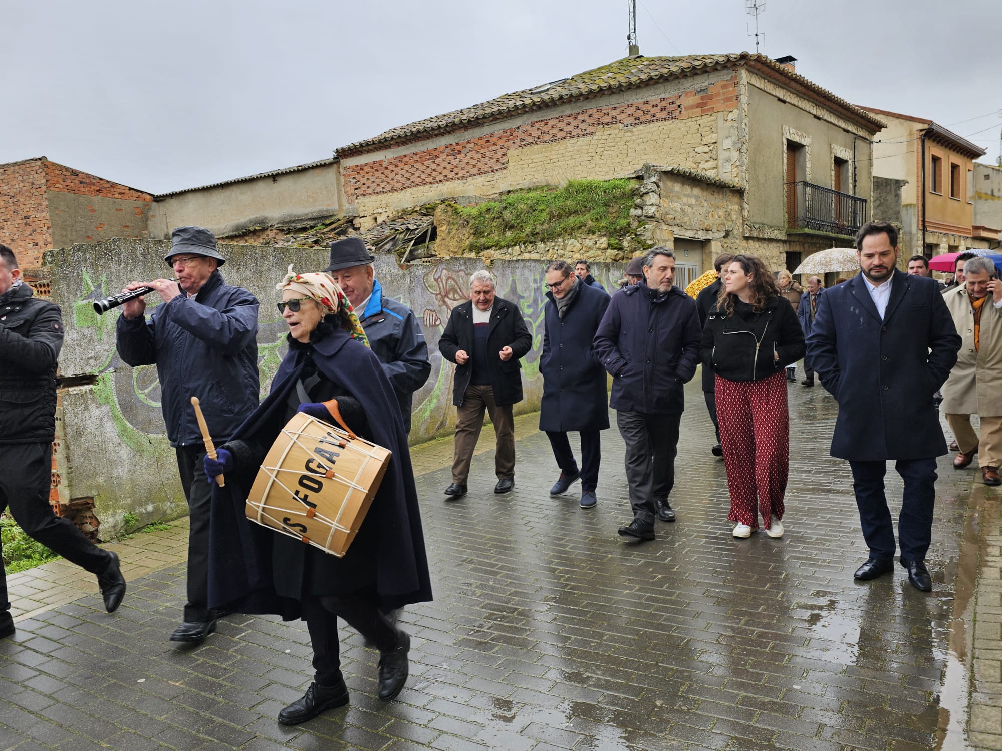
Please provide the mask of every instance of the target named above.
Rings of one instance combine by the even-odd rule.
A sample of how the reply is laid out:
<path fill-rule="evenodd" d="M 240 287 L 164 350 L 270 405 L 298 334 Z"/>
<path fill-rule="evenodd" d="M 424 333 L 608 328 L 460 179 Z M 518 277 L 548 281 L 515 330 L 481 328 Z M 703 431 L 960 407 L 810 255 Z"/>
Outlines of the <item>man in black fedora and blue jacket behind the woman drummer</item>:
<path fill-rule="evenodd" d="M 407 305 L 384 294 L 375 276 L 375 261 L 365 242 L 347 237 L 331 243 L 331 264 L 324 270 L 355 308 L 373 353 L 397 392 L 404 428 L 410 433 L 413 395 L 428 381 L 432 363 L 417 316 Z"/>

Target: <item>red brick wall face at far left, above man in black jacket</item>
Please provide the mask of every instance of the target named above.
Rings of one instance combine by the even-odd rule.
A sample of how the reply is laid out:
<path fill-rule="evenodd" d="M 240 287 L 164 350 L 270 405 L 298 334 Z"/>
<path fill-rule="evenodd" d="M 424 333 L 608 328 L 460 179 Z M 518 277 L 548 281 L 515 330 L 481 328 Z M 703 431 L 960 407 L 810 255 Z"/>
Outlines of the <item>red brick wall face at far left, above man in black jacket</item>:
<path fill-rule="evenodd" d="M 52 247 L 41 159 L 0 164 L 0 242 L 14 250 L 22 268 L 37 266 Z"/>

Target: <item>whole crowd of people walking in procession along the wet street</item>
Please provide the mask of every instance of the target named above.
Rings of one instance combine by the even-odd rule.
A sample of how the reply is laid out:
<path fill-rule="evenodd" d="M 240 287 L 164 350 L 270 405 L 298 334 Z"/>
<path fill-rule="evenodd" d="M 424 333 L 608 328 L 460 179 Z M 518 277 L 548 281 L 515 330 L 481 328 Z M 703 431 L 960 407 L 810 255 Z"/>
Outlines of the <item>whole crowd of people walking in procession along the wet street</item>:
<path fill-rule="evenodd" d="M 818 276 L 804 288 L 761 258 L 724 253 L 714 260 L 717 279 L 695 299 L 675 285 L 669 248 L 630 260 L 611 294 L 587 261 L 550 262 L 542 271 L 548 291 L 539 358 L 539 430 L 550 442 L 556 475 L 549 495 L 580 481 L 580 507 L 599 503 L 600 436 L 610 427 L 611 408 L 625 446 L 632 513 L 618 534 L 654 540 L 656 521 L 675 520 L 670 496 L 683 388 L 701 363 L 716 441 L 710 451 L 722 457 L 727 475 L 730 535 L 746 539 L 763 529 L 782 538 L 788 384 L 802 361 L 803 386 L 817 378 L 839 405 L 831 453 L 852 470 L 869 550 L 856 579 L 892 571 L 900 551 L 909 581 L 929 591 L 936 458 L 948 451 L 940 398 L 956 437 L 954 467 L 966 468 L 978 456 L 983 482 L 1002 485 L 1002 397 L 995 387 L 1002 376 L 1002 284 L 992 263 L 974 255 L 961 256 L 946 286 L 929 277 L 922 256 L 909 259 L 908 273 L 898 270 L 898 235 L 889 223 L 864 225 L 856 247 L 859 274 L 827 290 Z M 290 267 L 278 285 L 289 348 L 260 404 L 259 301 L 223 281 L 226 261 L 208 230 L 173 230 L 164 260 L 175 278 L 135 281 L 123 290 L 148 288 L 162 304 L 147 316 L 137 295 L 122 305 L 116 324 L 122 361 L 156 365 L 191 518 L 186 603 L 169 639 L 200 642 L 231 611 L 306 620 L 315 678 L 279 713 L 288 725 L 349 701 L 338 618 L 380 651 L 380 698 L 397 696 L 408 677 L 410 639 L 396 613 L 432 598 L 407 441 L 412 395 L 431 372 L 428 345 L 414 312 L 385 294 L 361 239 L 330 249 L 323 271 Z M 515 487 L 512 408 L 523 399 L 521 360 L 533 344 L 518 301 L 498 296 L 490 271 L 471 276 L 469 297 L 452 310 L 438 342 L 442 357 L 455 364 L 454 461 L 444 490 L 450 503 L 468 493 L 485 413 L 496 437 L 494 492 Z M 0 306 L 0 388 L 23 397 L 0 403 L 0 509 L 8 507 L 28 535 L 95 574 L 113 612 L 126 589 L 117 557 L 57 519 L 48 503 L 60 312 L 33 297 L 3 245 Z M 216 451 L 206 447 L 188 407 L 192 397 L 204 406 Z M 354 428 L 353 440 L 357 434 L 392 453 L 367 522 L 343 557 L 304 545 L 305 535 L 300 540 L 254 525 L 243 513 L 258 469 L 287 422 L 299 414 L 329 422 L 336 408 Z M 975 414 L 980 436 L 971 425 Z M 569 434 L 578 435 L 579 458 Z M 321 456 L 333 464 L 339 455 L 331 451 Z M 884 491 L 888 461 L 905 485 L 897 539 Z M 319 467 L 307 463 L 308 472 L 332 476 Z M 316 484 L 304 478 L 294 496 L 315 509 L 305 491 Z M 9 607 L 0 581 L 0 638 L 14 633 Z"/>

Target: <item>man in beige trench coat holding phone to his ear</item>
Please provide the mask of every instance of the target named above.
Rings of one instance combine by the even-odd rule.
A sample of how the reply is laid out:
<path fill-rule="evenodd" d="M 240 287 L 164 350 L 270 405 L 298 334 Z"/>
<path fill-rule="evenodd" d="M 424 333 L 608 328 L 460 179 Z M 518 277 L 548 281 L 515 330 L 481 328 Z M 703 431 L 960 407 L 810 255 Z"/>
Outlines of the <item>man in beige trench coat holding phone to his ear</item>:
<path fill-rule="evenodd" d="M 958 470 L 978 455 L 985 485 L 1002 485 L 1002 281 L 987 258 L 971 258 L 967 280 L 943 295 L 957 333 L 964 343 L 957 364 L 943 385 L 943 409 L 960 454 Z M 981 439 L 971 427 L 971 415 L 981 417 Z"/>

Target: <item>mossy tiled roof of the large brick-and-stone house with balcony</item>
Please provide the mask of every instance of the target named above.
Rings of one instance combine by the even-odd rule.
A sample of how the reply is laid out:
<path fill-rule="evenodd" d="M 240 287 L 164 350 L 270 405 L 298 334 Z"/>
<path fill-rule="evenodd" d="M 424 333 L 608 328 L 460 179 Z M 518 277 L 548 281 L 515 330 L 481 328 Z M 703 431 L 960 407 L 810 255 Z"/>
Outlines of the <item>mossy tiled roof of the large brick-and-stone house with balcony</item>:
<path fill-rule="evenodd" d="M 780 79 L 793 88 L 842 110 L 852 119 L 872 126 L 874 132 L 884 123 L 831 91 L 809 81 L 791 68 L 758 53 L 740 52 L 725 55 L 683 55 L 678 57 L 624 57 L 608 65 L 578 73 L 540 86 L 514 91 L 490 101 L 474 104 L 442 115 L 391 128 L 374 138 L 339 148 L 337 156 L 369 151 L 396 143 L 419 140 L 455 130 L 486 124 L 495 120 L 532 112 L 564 102 L 587 99 L 614 91 L 646 86 L 661 80 L 682 78 L 719 68 L 749 65 L 757 72 Z"/>

